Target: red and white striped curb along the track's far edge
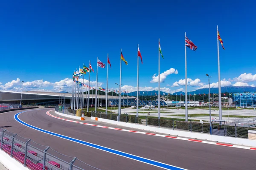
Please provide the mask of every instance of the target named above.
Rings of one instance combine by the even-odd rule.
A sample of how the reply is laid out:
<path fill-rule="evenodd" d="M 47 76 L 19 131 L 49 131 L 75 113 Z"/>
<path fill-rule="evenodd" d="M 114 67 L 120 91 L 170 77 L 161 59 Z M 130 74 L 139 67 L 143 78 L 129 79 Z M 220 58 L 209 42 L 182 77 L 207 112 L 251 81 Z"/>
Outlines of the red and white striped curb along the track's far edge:
<path fill-rule="evenodd" d="M 51 110 L 51 111 L 54 111 L 54 110 Z M 50 111 L 46 112 L 46 114 L 48 116 L 57 118 L 56 116 L 51 115 L 49 112 Z M 61 118 L 57 118 L 57 119 L 61 119 Z M 65 120 L 68 122 L 76 122 L 76 121 L 69 120 L 69 119 L 61 119 L 61 120 Z M 145 134 L 145 135 L 150 135 L 150 136 L 160 136 L 160 137 L 165 137 L 165 138 L 180 139 L 180 140 L 191 141 L 191 142 L 199 142 L 199 143 L 205 143 L 205 144 L 215 144 L 215 145 L 219 145 L 219 146 L 236 147 L 236 148 L 240 148 L 240 149 L 256 150 L 255 147 L 247 147 L 247 146 L 240 146 L 240 145 L 234 145 L 234 144 L 222 144 L 222 143 L 202 141 L 202 140 L 196 140 L 196 139 L 187 139 L 187 138 L 176 137 L 176 136 L 166 136 L 166 135 L 160 135 L 160 134 L 154 134 L 154 133 L 140 132 L 140 131 L 135 131 L 135 130 L 119 129 L 119 128 L 115 128 L 115 127 L 107 127 L 107 126 L 101 126 L 101 125 L 93 125 L 90 123 L 83 123 L 83 122 L 77 122 L 77 123 L 83 124 L 83 125 L 95 126 L 95 127 L 103 127 L 103 128 L 113 129 L 113 130 L 121 130 L 121 131 L 132 132 L 132 133 L 140 133 L 140 134 Z"/>

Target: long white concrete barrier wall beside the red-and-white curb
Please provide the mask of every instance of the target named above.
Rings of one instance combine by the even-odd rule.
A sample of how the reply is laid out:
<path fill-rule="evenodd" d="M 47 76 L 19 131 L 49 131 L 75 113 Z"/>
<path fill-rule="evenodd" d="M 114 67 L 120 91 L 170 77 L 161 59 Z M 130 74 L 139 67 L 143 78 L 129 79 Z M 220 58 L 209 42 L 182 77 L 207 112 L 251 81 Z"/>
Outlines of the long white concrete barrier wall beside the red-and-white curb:
<path fill-rule="evenodd" d="M 95 117 L 91 117 L 91 119 L 96 120 Z M 230 144 L 239 144 L 244 146 L 256 147 L 255 140 L 250 140 L 250 139 L 234 138 L 234 137 L 227 137 L 227 136 L 216 136 L 216 135 L 210 135 L 207 133 L 196 133 L 196 132 L 189 132 L 189 131 L 182 131 L 182 130 L 171 130 L 171 129 L 152 127 L 152 126 L 138 125 L 134 123 L 118 122 L 115 120 L 108 120 L 108 119 L 102 119 L 102 118 L 97 118 L 97 119 L 100 122 L 111 123 L 113 125 L 131 127 L 131 128 L 141 129 L 141 130 L 149 130 L 152 132 L 165 133 L 173 136 L 183 136 L 183 137 L 194 138 L 194 139 L 202 139 L 202 140 L 208 140 L 208 141 L 224 142 L 224 143 L 230 143 Z"/>

